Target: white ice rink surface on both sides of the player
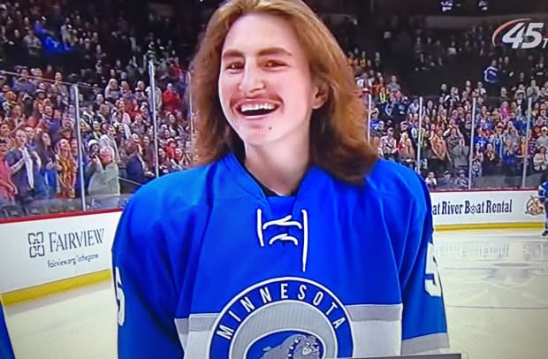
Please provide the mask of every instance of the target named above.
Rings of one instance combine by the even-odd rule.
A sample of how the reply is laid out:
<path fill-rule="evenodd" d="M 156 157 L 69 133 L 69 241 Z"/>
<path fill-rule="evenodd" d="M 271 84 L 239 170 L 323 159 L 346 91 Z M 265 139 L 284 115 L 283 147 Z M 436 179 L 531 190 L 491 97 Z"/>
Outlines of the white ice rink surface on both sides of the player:
<path fill-rule="evenodd" d="M 436 234 L 451 352 L 548 358 L 548 240 L 537 230 Z M 110 283 L 6 308 L 18 358 L 115 358 Z M 201 359 L 201 358 L 197 358 Z"/>

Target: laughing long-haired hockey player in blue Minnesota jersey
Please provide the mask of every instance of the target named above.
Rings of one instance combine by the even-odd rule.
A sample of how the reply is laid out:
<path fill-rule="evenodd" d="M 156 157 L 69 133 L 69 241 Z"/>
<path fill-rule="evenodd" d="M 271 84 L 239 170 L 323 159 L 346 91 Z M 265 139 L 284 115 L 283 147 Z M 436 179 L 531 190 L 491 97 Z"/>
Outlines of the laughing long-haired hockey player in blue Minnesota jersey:
<path fill-rule="evenodd" d="M 230 0 L 190 84 L 194 168 L 127 204 L 119 358 L 343 358 L 449 345 L 428 188 L 377 158 L 306 4 Z"/>

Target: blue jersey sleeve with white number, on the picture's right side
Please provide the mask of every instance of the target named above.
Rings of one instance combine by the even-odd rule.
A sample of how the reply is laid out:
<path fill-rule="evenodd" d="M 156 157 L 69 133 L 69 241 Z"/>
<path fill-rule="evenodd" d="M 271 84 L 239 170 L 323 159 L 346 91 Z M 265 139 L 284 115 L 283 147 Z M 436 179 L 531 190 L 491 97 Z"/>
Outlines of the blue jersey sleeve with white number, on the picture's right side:
<path fill-rule="evenodd" d="M 417 176 L 418 177 L 418 176 Z M 406 272 L 402 279 L 402 355 L 448 348 L 445 303 L 434 256 L 430 192 L 421 178 L 414 181 L 415 203 L 406 239 Z"/>

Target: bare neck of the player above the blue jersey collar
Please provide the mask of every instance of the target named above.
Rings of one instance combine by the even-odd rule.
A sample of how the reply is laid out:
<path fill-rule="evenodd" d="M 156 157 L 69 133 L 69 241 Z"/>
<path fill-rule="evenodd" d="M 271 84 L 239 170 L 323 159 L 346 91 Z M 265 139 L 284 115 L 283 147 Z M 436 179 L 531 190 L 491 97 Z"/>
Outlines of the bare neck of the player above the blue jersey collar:
<path fill-rule="evenodd" d="M 265 148 L 266 147 L 266 148 Z M 308 170 L 310 153 L 308 138 L 287 146 L 287 143 L 265 147 L 246 146 L 245 165 L 263 186 L 278 195 L 290 195 Z M 295 156 L 300 154 L 301 156 Z"/>

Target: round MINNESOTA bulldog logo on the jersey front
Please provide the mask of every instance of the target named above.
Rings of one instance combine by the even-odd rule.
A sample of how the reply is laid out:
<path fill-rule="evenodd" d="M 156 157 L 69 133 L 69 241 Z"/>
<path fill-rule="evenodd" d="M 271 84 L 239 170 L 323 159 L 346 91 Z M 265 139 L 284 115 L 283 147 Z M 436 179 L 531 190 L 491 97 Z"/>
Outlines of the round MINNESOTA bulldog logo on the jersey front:
<path fill-rule="evenodd" d="M 235 296 L 217 317 L 209 358 L 324 359 L 353 355 L 342 302 L 309 279 L 270 279 Z"/>

